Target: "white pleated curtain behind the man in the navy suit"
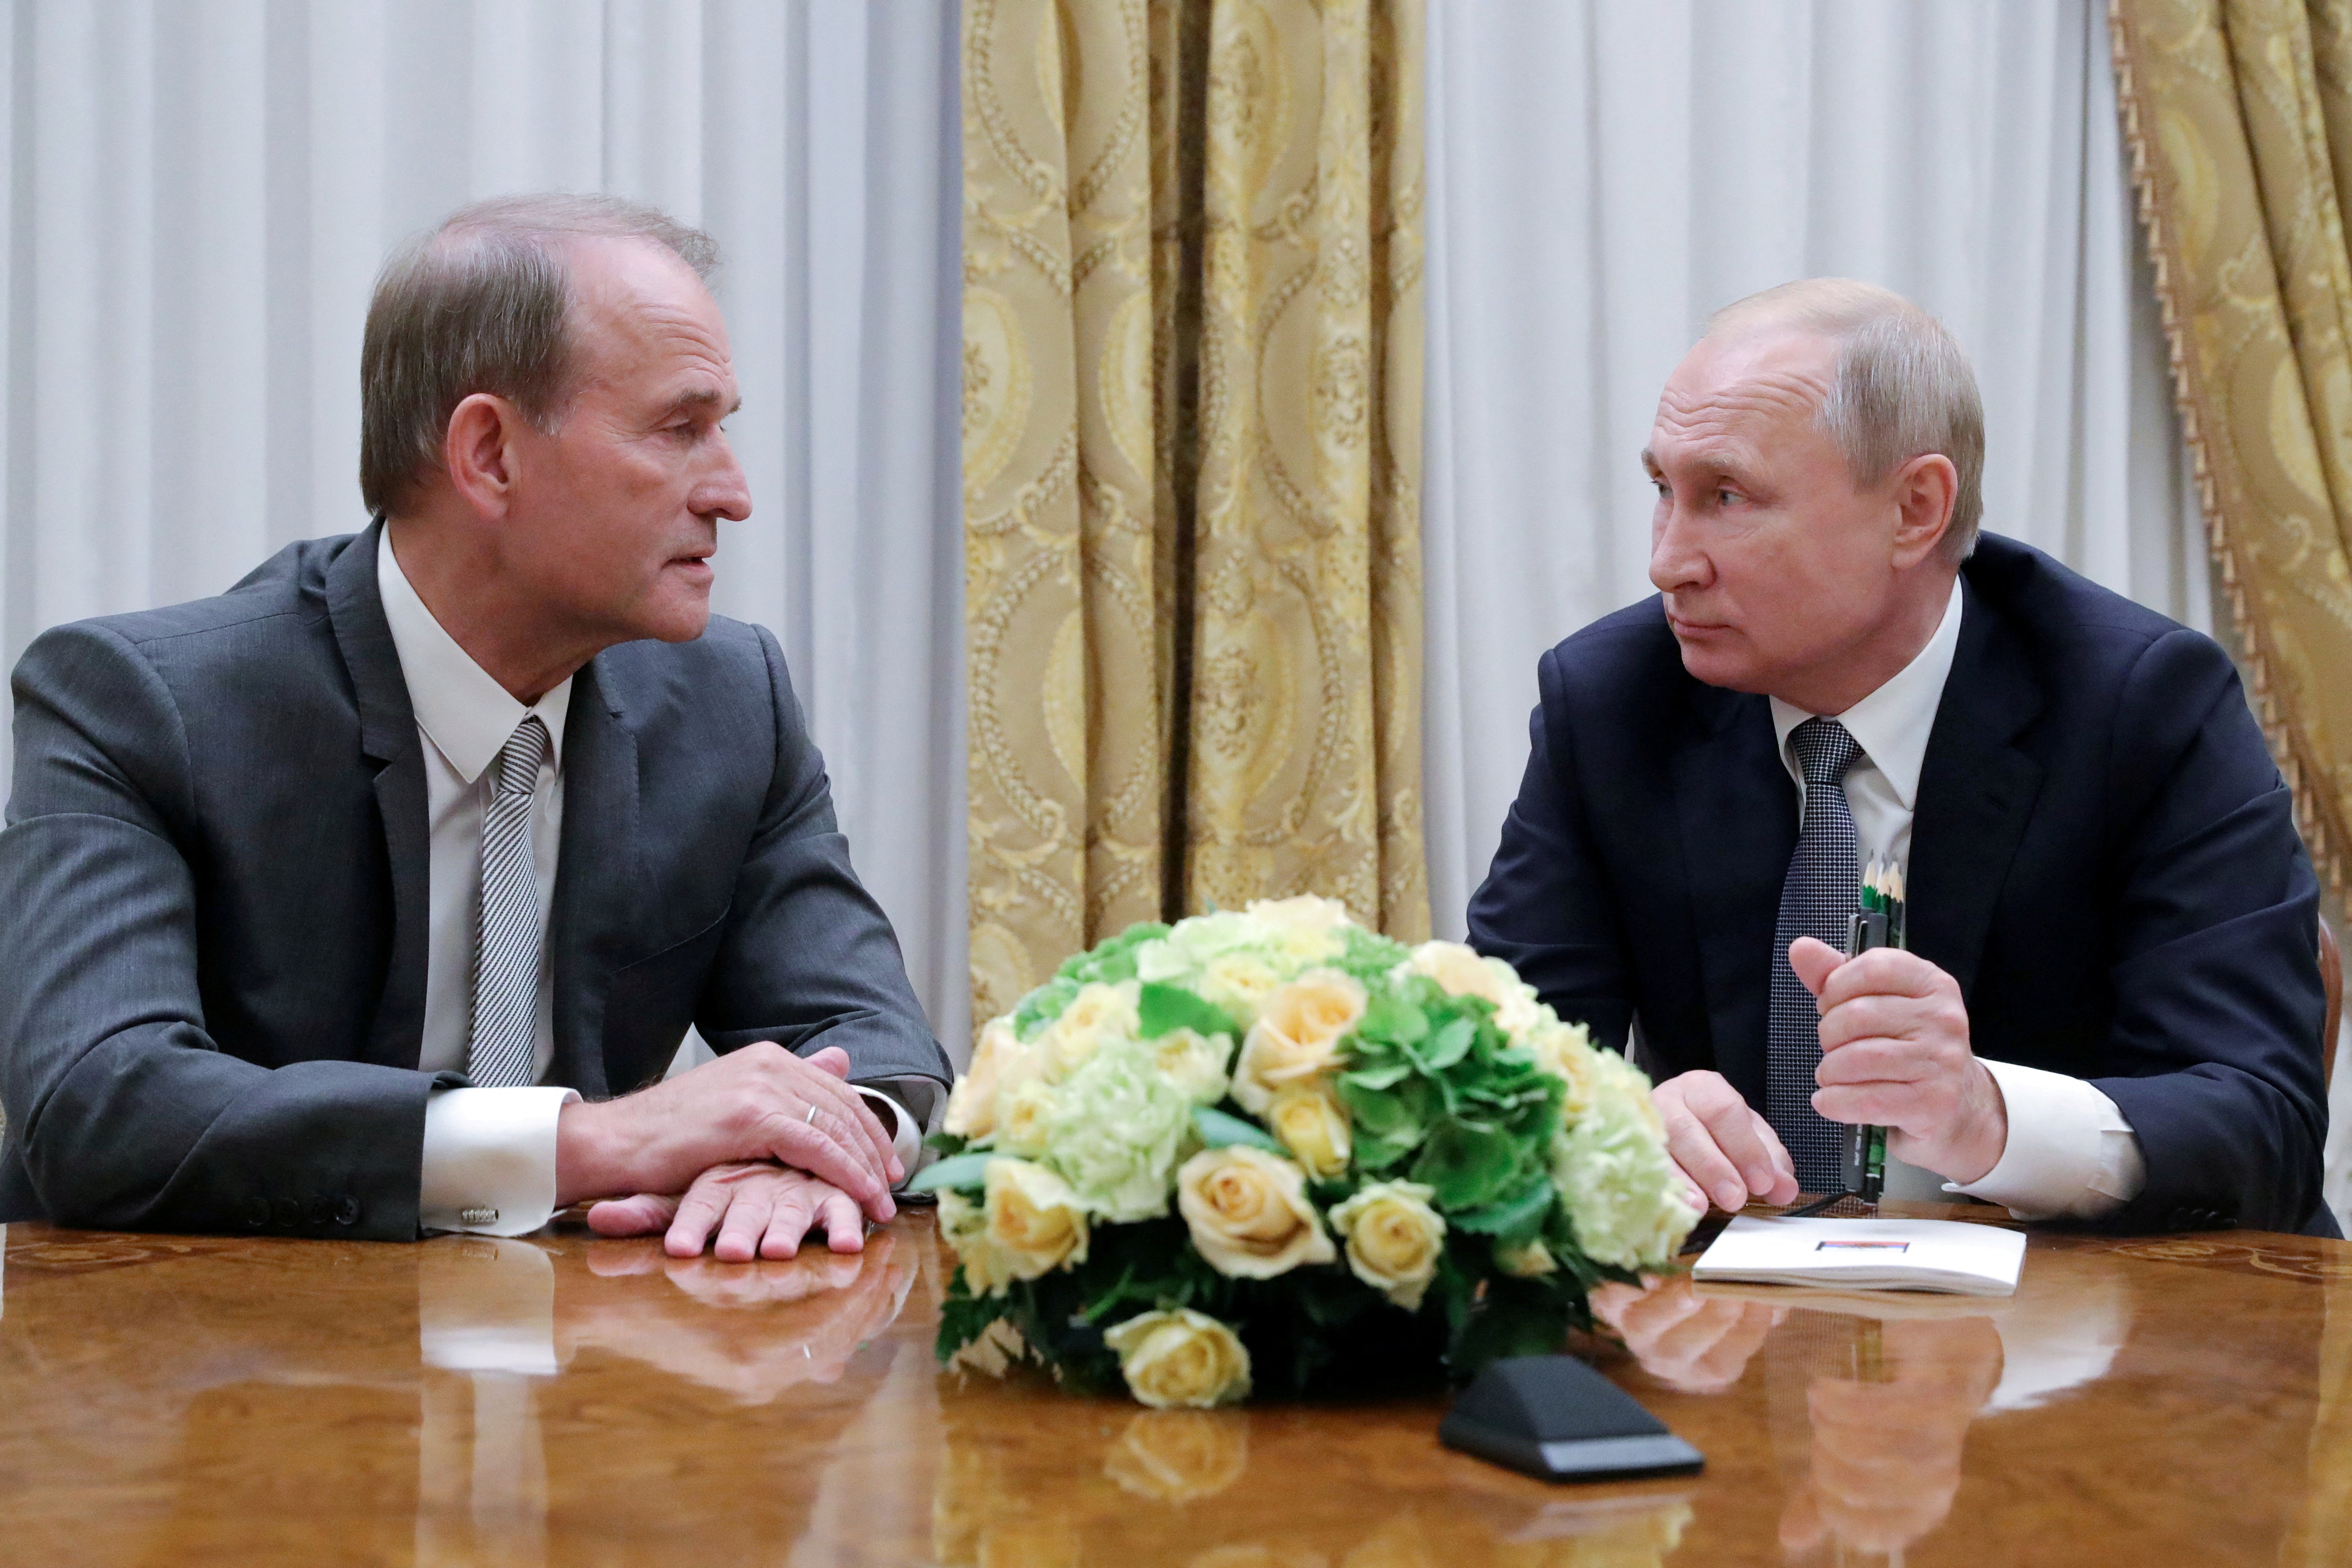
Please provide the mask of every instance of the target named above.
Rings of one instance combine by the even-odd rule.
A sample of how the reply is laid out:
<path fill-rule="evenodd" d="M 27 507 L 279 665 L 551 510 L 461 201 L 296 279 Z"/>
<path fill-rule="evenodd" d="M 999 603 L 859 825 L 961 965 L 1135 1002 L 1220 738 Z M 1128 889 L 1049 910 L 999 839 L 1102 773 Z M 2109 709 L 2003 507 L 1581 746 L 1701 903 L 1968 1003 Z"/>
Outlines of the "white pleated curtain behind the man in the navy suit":
<path fill-rule="evenodd" d="M 1985 527 L 2206 628 L 2204 531 L 2093 0 L 1430 0 L 1425 773 L 1458 936 L 1536 656 L 1651 592 L 1635 454 L 1717 306 L 1806 275 L 1933 310 Z"/>

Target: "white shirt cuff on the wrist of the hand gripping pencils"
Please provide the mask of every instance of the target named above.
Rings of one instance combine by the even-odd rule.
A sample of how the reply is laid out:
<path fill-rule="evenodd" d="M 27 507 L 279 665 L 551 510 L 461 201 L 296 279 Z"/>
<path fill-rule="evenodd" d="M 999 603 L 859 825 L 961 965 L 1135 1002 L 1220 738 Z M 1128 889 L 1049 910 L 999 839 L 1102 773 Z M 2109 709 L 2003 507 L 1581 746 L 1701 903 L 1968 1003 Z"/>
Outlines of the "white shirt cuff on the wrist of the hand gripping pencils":
<path fill-rule="evenodd" d="M 1985 1063 L 2009 1110 L 2002 1159 L 1945 1192 L 2002 1204 L 2020 1220 L 2096 1220 L 2140 1197 L 2147 1159 L 2114 1100 L 2063 1072 Z"/>

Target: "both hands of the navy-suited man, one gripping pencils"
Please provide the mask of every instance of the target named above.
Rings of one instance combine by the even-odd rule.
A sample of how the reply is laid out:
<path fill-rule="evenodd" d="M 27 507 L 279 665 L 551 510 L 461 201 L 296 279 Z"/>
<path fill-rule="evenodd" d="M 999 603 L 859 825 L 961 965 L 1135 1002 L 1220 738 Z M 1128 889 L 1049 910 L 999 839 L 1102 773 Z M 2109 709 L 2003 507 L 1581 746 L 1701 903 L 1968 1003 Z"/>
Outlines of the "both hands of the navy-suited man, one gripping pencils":
<path fill-rule="evenodd" d="M 1983 1178 L 2009 1145 L 1999 1084 L 1969 1046 L 1959 983 L 1915 952 L 1846 959 L 1799 936 L 1790 969 L 1820 1009 L 1813 1110 L 1889 1131 L 1893 1157 L 1955 1182 Z M 1797 1199 L 1780 1138 L 1719 1072 L 1684 1072 L 1651 1091 L 1691 1201 L 1738 1211 L 1750 1197 Z"/>

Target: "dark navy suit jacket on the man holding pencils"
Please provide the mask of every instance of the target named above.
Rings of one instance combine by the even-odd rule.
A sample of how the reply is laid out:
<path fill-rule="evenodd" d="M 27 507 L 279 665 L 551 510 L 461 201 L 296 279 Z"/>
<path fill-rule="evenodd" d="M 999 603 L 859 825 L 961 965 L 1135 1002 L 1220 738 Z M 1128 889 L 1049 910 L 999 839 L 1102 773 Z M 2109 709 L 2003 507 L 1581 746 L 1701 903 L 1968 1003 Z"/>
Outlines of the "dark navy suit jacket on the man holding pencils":
<path fill-rule="evenodd" d="M 1983 536 L 1919 771 L 1910 945 L 1980 1056 L 2093 1081 L 2147 1187 L 2124 1229 L 2336 1234 L 2319 889 L 2230 658 L 2039 550 Z M 1658 1077 L 1764 1105 L 1797 785 L 1762 696 L 1705 686 L 1658 599 L 1541 663 L 1543 703 L 1470 943 Z"/>

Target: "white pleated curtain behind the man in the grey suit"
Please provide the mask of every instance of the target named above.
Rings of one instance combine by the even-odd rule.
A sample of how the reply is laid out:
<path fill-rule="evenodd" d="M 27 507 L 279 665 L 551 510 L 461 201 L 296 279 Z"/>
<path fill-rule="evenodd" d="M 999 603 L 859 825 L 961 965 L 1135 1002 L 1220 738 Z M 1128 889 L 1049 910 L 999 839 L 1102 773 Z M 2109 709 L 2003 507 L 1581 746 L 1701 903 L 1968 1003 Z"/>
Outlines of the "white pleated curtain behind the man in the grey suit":
<path fill-rule="evenodd" d="M 955 0 L 7 0 L 0 656 L 360 524 L 383 254 L 473 197 L 708 228 L 776 630 L 866 884 L 967 1030 Z M 5 762 L 5 750 L 0 750 Z"/>

